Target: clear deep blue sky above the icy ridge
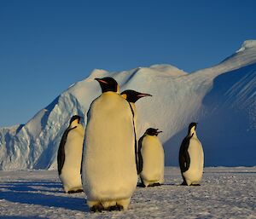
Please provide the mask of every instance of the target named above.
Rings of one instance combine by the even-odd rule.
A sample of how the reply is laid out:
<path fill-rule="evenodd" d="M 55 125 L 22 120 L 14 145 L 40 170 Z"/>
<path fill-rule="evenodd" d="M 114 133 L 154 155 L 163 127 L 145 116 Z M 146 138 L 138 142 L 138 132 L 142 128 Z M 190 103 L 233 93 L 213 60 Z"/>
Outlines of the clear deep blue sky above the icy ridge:
<path fill-rule="evenodd" d="M 25 124 L 95 68 L 218 64 L 256 39 L 256 1 L 0 1 L 0 127 Z"/>

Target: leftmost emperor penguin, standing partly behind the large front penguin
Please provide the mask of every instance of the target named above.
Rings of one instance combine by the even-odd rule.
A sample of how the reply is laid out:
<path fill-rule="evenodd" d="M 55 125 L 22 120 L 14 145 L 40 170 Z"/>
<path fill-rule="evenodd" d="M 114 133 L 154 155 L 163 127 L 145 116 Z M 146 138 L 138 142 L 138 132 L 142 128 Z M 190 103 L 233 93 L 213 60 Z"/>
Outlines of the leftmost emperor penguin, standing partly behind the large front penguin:
<path fill-rule="evenodd" d="M 83 142 L 84 127 L 75 115 L 62 135 L 57 156 L 58 173 L 66 193 L 83 192 L 80 174 Z"/>

